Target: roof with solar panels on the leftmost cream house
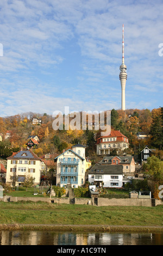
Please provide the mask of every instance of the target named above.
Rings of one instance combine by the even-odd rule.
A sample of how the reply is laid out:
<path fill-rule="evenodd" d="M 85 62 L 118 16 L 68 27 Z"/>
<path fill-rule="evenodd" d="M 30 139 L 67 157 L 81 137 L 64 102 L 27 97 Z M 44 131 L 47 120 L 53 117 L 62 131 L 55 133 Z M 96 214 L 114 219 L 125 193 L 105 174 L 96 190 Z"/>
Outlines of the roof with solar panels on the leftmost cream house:
<path fill-rule="evenodd" d="M 41 160 L 39 157 L 36 156 L 35 153 L 33 153 L 30 150 L 20 150 L 12 156 L 8 157 L 7 159 L 35 159 L 35 160 Z"/>

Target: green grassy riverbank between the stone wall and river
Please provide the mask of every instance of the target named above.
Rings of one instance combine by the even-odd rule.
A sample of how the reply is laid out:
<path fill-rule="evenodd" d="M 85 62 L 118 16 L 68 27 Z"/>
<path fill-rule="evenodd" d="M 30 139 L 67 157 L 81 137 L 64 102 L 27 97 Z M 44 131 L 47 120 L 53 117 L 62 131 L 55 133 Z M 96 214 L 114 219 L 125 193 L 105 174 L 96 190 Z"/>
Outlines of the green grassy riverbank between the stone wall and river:
<path fill-rule="evenodd" d="M 90 206 L 48 204 L 42 202 L 0 201 L 0 229 L 7 227 L 163 227 L 163 205 L 143 206 Z M 5 224 L 5 225 L 3 225 Z M 21 225 L 20 225 L 21 224 Z M 19 225 L 19 226 L 18 226 Z M 163 229 L 162 229 L 163 230 Z"/>

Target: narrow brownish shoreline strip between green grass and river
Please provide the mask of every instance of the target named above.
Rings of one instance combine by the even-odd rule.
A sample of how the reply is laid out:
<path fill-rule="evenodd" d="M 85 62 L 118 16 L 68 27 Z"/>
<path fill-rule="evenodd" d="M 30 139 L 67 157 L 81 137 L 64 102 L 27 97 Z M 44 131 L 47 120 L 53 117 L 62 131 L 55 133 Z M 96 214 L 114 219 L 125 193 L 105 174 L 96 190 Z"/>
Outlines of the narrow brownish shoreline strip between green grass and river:
<path fill-rule="evenodd" d="M 53 225 L 53 224 L 0 224 L 0 230 L 48 230 L 70 232 L 145 232 L 163 233 L 163 226 L 129 225 Z"/>

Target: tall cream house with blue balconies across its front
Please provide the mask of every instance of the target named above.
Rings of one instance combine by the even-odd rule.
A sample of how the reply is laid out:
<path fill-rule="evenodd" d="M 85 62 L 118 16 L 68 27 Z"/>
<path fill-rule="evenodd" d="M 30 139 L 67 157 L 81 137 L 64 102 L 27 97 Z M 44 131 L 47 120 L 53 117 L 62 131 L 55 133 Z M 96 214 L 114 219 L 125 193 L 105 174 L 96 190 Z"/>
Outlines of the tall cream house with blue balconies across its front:
<path fill-rule="evenodd" d="M 61 187 L 70 184 L 71 187 L 82 186 L 85 183 L 86 158 L 85 146 L 77 144 L 72 146 L 58 157 L 57 161 L 57 185 Z"/>

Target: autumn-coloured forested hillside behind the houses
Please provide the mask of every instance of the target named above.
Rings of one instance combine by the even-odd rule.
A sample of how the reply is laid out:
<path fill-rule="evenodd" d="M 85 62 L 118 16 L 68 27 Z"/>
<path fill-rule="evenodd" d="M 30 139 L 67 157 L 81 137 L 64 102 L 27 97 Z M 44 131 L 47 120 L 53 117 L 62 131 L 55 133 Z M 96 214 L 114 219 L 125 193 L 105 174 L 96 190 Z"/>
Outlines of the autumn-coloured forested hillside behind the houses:
<path fill-rule="evenodd" d="M 33 118 L 41 120 L 33 124 Z M 61 153 L 72 145 L 86 145 L 86 156 L 94 159 L 96 156 L 96 139 L 99 138 L 100 130 L 54 130 L 52 127 L 54 117 L 51 115 L 26 112 L 15 116 L 0 117 L 0 142 L 1 158 L 7 158 L 12 152 L 26 148 L 29 136 L 40 139 L 39 145 L 33 148 L 37 156 L 46 153 Z M 156 148 L 156 154 L 162 158 L 163 145 L 163 107 L 158 109 L 128 109 L 111 110 L 111 129 L 120 130 L 129 138 L 129 154 L 139 154 L 148 146 Z M 147 135 L 146 139 L 138 139 L 137 133 Z M 10 134 L 8 139 L 5 135 Z M 114 153 L 114 152 L 113 152 Z"/>

